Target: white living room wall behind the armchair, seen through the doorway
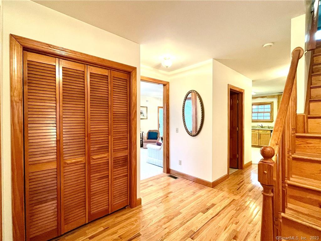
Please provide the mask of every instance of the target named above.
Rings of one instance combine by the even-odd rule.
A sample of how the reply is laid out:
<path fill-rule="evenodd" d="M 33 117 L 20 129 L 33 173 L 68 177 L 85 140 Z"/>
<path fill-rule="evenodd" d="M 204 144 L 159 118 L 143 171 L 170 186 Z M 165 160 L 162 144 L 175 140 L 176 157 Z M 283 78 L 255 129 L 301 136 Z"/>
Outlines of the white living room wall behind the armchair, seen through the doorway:
<path fill-rule="evenodd" d="M 147 119 L 141 119 L 141 131 L 146 136 L 148 130 L 158 129 L 158 106 L 163 106 L 163 98 L 141 96 L 141 106 L 147 106 Z"/>

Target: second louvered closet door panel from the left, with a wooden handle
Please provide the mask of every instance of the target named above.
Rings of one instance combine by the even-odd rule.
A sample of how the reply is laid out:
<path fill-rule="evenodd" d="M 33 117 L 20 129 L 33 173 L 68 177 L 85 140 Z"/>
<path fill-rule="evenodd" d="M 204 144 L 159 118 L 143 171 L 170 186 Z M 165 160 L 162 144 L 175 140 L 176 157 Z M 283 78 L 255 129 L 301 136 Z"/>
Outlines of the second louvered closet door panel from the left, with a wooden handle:
<path fill-rule="evenodd" d="M 87 217 L 87 66 L 59 60 L 61 231 Z"/>

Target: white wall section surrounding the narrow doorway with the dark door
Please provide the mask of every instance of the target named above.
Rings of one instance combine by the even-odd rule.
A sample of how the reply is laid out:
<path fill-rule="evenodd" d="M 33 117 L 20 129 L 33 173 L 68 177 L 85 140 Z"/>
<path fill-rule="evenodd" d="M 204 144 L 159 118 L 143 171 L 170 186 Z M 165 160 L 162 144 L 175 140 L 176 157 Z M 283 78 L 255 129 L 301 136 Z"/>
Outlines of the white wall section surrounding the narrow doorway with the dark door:
<path fill-rule="evenodd" d="M 252 80 L 213 60 L 213 181 L 228 168 L 228 84 L 244 89 L 244 163 L 251 161 Z"/>

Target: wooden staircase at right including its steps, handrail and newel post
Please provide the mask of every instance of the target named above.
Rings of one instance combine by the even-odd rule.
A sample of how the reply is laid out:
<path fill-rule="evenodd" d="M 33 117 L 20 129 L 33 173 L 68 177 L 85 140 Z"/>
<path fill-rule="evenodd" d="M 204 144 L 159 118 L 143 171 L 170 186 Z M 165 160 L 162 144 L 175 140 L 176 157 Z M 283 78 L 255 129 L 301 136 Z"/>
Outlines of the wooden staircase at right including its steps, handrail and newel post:
<path fill-rule="evenodd" d="M 270 144 L 261 149 L 261 240 L 276 240 L 276 236 L 321 239 L 321 43 L 311 52 L 304 114 L 296 113 L 295 75 L 303 54 L 298 49 L 292 52 Z"/>

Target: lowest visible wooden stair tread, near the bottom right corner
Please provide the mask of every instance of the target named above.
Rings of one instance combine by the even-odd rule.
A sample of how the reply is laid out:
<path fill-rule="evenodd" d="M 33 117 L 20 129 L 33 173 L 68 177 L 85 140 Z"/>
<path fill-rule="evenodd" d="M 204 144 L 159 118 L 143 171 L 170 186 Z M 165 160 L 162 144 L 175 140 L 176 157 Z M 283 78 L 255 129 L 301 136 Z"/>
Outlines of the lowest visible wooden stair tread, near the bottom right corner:
<path fill-rule="evenodd" d="M 321 221 L 318 219 L 318 216 L 313 214 L 317 213 L 313 213 L 311 210 L 289 203 L 288 207 L 285 209 L 285 213 L 282 213 L 282 216 L 292 220 L 294 219 L 293 221 L 298 221 L 321 231 Z M 321 215 L 321 213 L 319 213 L 319 215 Z"/>

